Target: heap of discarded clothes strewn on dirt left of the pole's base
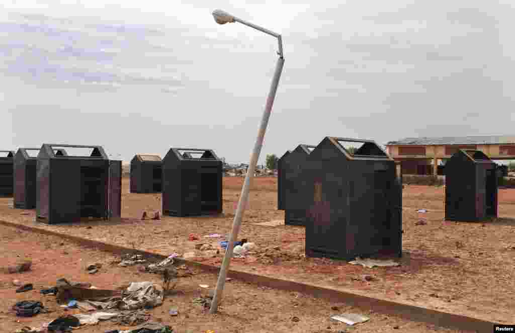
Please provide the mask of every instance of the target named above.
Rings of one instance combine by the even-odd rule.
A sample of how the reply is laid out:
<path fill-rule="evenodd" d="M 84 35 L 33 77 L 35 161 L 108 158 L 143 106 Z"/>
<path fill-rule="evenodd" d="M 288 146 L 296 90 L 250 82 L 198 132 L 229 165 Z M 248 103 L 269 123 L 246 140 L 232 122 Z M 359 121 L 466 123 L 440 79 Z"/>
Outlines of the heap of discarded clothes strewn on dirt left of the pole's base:
<path fill-rule="evenodd" d="M 155 267 L 156 269 L 166 267 L 170 262 L 173 262 L 171 256 L 156 264 Z M 145 309 L 163 304 L 163 289 L 154 282 L 131 282 L 129 286 L 117 290 L 103 290 L 89 283 L 71 282 L 60 278 L 55 287 L 41 289 L 40 292 L 43 295 L 55 295 L 57 303 L 62 304 L 61 307 L 77 308 L 88 313 L 62 315 L 44 324 L 42 328 L 24 327 L 20 332 L 66 332 L 105 320 L 112 320 L 124 326 L 141 325 L 131 330 L 119 330 L 118 333 L 173 332 L 169 326 L 148 322 L 150 314 Z M 33 317 L 38 313 L 49 312 L 39 301 L 18 302 L 12 309 L 19 317 Z"/>

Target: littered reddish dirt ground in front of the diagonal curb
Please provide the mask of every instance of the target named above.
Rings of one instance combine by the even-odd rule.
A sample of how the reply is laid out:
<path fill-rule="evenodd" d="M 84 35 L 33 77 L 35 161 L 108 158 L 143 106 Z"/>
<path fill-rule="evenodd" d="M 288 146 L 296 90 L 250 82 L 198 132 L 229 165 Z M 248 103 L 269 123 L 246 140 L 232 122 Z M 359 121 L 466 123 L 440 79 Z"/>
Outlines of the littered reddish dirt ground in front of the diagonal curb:
<path fill-rule="evenodd" d="M 41 327 L 60 315 L 80 313 L 78 309 L 64 310 L 56 303 L 56 297 L 42 295 L 40 289 L 52 287 L 56 279 L 64 277 L 71 281 L 90 282 L 100 289 L 115 289 L 133 281 L 153 281 L 160 283 L 158 275 L 140 273 L 135 267 L 119 268 L 114 263 L 117 258 L 111 254 L 63 242 L 58 237 L 31 234 L 15 228 L 0 226 L 0 251 L 2 264 L 14 263 L 18 256 L 32 259 L 32 269 L 16 274 L 0 274 L 0 331 L 13 332 L 23 326 Z M 119 261 L 119 260 L 118 260 Z M 102 267 L 94 275 L 87 274 L 85 267 L 90 263 L 101 263 Z M 114 263 L 114 264 L 113 264 Z M 174 292 L 166 296 L 164 304 L 148 310 L 152 321 L 161 321 L 171 326 L 178 333 L 205 332 L 209 329 L 221 332 L 399 332 L 415 333 L 457 332 L 412 322 L 393 316 L 370 312 L 342 304 L 332 304 L 301 293 L 291 293 L 244 282 L 230 281 L 226 284 L 225 296 L 219 306 L 219 313 L 210 315 L 202 311 L 201 306 L 192 303 L 194 297 L 206 294 L 209 289 L 202 289 L 199 284 L 208 284 L 211 288 L 216 283 L 216 275 L 203 274 L 194 270 L 189 276 L 177 279 Z M 180 273 L 184 275 L 183 273 Z M 12 279 L 23 283 L 32 283 L 34 290 L 15 293 Z M 51 313 L 40 313 L 32 318 L 16 317 L 10 310 L 12 305 L 23 300 L 36 300 L 43 303 Z M 337 306 L 338 310 L 332 307 Z M 170 317 L 171 307 L 178 308 L 179 315 Z M 331 315 L 354 312 L 365 314 L 369 322 L 348 327 L 334 322 Z M 297 317 L 298 322 L 292 319 Z M 398 327 L 395 329 L 394 327 Z M 83 326 L 79 332 L 105 332 L 111 329 L 130 329 L 110 321 L 100 322 L 95 326 Z"/>

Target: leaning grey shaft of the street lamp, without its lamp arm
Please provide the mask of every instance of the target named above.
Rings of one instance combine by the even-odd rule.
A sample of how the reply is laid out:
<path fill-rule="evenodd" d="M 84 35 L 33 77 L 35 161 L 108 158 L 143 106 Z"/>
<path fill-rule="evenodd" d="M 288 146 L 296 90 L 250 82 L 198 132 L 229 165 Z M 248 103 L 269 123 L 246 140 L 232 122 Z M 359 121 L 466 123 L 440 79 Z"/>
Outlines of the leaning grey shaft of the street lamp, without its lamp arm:
<path fill-rule="evenodd" d="M 263 118 L 261 119 L 261 126 L 258 132 L 258 138 L 254 144 L 254 149 L 252 151 L 252 155 L 250 157 L 249 169 L 247 171 L 247 175 L 245 176 L 245 183 L 242 188 L 242 193 L 239 196 L 238 207 L 236 208 L 236 215 L 234 216 L 234 221 L 232 223 L 232 232 L 229 238 L 229 244 L 227 245 L 227 251 L 224 257 L 224 261 L 222 262 L 220 268 L 220 274 L 218 275 L 218 281 L 216 282 L 216 289 L 213 297 L 213 302 L 211 303 L 211 308 L 209 313 L 216 313 L 218 309 L 218 304 L 221 301 L 222 292 L 224 291 L 224 286 L 227 277 L 227 271 L 229 270 L 229 264 L 233 255 L 234 242 L 238 237 L 239 229 L 242 226 L 242 217 L 245 212 L 245 206 L 248 202 L 249 198 L 249 190 L 250 190 L 250 182 L 254 175 L 254 170 L 256 163 L 258 163 L 259 155 L 261 153 L 261 147 L 263 146 L 263 140 L 265 139 L 265 131 L 266 126 L 268 125 L 268 119 L 270 118 L 270 113 L 272 111 L 273 100 L 276 98 L 277 86 L 279 85 L 279 79 L 281 78 L 281 72 L 283 70 L 284 65 L 284 57 L 282 54 L 282 40 L 281 36 L 278 36 L 280 52 L 279 59 L 277 59 L 276 71 L 273 74 L 272 85 L 270 87 L 270 92 L 268 93 L 268 98 L 266 100 L 265 111 L 263 112 Z"/>

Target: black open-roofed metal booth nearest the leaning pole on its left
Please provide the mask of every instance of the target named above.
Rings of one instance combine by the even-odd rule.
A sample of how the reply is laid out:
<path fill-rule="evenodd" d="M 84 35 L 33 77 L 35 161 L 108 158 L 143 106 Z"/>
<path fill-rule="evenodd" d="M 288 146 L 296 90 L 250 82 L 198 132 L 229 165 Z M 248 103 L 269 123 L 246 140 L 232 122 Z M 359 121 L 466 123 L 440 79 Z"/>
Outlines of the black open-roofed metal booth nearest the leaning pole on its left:
<path fill-rule="evenodd" d="M 163 159 L 163 215 L 221 213 L 222 164 L 210 149 L 171 148 Z"/>

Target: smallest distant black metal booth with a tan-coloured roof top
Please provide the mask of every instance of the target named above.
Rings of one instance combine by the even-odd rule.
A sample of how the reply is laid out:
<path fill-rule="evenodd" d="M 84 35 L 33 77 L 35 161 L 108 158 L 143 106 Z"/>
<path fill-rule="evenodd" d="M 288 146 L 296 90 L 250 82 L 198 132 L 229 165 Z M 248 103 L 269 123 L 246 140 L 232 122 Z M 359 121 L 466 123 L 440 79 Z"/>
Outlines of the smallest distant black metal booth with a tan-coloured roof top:
<path fill-rule="evenodd" d="M 161 192 L 161 162 L 158 155 L 135 155 L 130 162 L 130 192 Z"/>

